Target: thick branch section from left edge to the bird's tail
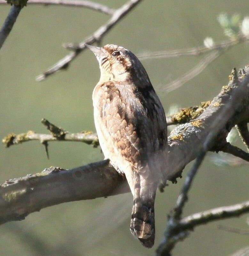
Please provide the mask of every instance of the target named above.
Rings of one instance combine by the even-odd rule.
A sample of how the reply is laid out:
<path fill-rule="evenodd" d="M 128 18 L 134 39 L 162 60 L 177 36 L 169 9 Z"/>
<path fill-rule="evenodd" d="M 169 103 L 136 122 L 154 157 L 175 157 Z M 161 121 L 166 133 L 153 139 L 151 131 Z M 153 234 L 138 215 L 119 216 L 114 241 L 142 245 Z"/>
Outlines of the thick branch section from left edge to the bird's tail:
<path fill-rule="evenodd" d="M 106 160 L 71 170 L 45 169 L 0 185 L 0 224 L 59 203 L 128 191 L 124 178 Z"/>

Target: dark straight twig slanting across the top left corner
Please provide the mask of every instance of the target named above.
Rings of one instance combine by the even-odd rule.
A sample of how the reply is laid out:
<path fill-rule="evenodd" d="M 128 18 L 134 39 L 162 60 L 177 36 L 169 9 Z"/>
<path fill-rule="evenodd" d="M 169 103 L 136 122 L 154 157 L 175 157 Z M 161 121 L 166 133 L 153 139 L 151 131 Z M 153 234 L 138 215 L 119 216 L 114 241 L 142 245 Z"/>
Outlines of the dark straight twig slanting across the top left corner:
<path fill-rule="evenodd" d="M 6 1 L 4 1 L 4 2 L 7 3 Z M 20 5 L 18 5 L 18 6 L 13 5 L 11 7 L 10 12 L 0 30 L 0 49 L 2 48 L 4 41 L 10 34 L 10 31 L 11 31 L 14 23 L 16 22 L 16 19 L 18 17 L 19 12 L 21 11 L 21 9 L 22 9 L 22 7 Z"/>

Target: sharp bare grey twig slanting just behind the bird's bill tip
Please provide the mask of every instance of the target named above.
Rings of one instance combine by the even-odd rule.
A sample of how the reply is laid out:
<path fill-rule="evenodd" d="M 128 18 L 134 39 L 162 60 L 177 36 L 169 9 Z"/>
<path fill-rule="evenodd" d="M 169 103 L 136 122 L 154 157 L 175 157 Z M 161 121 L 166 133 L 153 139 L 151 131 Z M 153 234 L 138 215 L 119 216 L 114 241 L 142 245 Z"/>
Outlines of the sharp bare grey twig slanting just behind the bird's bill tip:
<path fill-rule="evenodd" d="M 135 7 L 136 4 L 138 4 L 141 1 L 142 0 L 128 1 L 126 4 L 121 6 L 121 8 L 113 12 L 111 19 L 107 23 L 105 23 L 105 25 L 102 25 L 99 29 L 97 29 L 93 33 L 93 35 L 85 39 L 79 45 L 74 45 L 74 44 L 65 45 L 66 48 L 72 51 L 68 55 L 66 55 L 63 59 L 59 60 L 56 64 L 54 64 L 51 68 L 49 68 L 48 70 L 43 72 L 41 75 L 39 75 L 36 78 L 36 80 L 42 81 L 46 77 L 57 72 L 58 70 L 67 68 L 69 63 L 73 61 L 78 56 L 78 54 L 80 54 L 86 48 L 85 44 L 91 45 L 93 43 L 98 42 L 118 21 L 121 20 L 122 17 L 124 17 L 128 12 L 130 12 L 132 8 Z"/>

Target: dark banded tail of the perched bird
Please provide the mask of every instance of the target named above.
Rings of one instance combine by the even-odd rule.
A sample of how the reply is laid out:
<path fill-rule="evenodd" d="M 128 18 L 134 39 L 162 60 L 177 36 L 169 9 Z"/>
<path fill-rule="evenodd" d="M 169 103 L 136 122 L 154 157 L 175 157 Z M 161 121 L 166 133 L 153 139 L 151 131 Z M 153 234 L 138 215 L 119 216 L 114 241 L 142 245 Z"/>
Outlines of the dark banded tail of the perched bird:
<path fill-rule="evenodd" d="M 150 193 L 148 188 L 145 189 L 146 194 L 148 194 L 146 196 L 143 194 L 144 189 L 140 189 L 140 185 L 140 181 L 135 184 L 130 231 L 145 247 L 151 248 L 155 240 L 155 191 Z"/>

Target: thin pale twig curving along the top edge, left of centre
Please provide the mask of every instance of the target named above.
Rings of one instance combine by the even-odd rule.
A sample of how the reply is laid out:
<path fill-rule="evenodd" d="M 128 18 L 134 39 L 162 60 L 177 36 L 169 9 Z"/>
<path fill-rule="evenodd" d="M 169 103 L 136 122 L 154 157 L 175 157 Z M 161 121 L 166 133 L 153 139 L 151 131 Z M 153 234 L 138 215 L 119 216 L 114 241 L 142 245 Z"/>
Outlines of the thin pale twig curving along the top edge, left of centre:
<path fill-rule="evenodd" d="M 6 4 L 5 0 L 0 0 L 0 4 Z M 103 12 L 105 14 L 113 14 L 114 10 L 105 6 L 104 4 L 94 3 L 92 1 L 86 0 L 29 0 L 27 5 L 30 4 L 44 4 L 44 5 L 51 5 L 51 4 L 59 4 L 63 6 L 75 6 L 75 7 L 86 7 L 89 9 L 93 9 L 99 12 Z"/>

